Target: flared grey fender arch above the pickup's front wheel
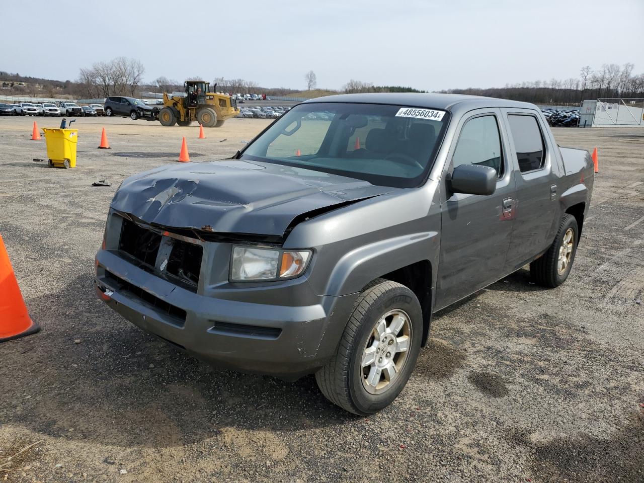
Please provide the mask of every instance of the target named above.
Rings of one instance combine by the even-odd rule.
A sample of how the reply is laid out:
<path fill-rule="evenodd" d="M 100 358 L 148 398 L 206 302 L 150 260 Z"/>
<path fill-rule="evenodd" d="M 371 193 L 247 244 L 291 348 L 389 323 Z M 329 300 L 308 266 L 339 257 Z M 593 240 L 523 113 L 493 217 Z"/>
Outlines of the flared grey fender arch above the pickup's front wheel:
<path fill-rule="evenodd" d="M 332 270 L 323 295 L 361 292 L 370 281 L 439 252 L 438 232 L 420 232 L 387 238 L 355 248 Z M 434 260 L 430 260 L 433 265 Z"/>

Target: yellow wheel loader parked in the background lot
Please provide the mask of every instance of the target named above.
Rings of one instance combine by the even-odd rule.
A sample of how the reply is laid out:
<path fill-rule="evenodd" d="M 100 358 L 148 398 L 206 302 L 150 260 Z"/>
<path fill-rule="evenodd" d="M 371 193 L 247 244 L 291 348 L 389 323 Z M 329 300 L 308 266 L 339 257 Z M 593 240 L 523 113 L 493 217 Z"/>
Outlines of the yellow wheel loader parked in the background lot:
<path fill-rule="evenodd" d="M 196 120 L 204 128 L 219 128 L 239 113 L 229 95 L 211 92 L 209 82 L 185 81 L 184 95 L 163 94 L 164 107 L 158 115 L 163 126 L 189 126 Z"/>

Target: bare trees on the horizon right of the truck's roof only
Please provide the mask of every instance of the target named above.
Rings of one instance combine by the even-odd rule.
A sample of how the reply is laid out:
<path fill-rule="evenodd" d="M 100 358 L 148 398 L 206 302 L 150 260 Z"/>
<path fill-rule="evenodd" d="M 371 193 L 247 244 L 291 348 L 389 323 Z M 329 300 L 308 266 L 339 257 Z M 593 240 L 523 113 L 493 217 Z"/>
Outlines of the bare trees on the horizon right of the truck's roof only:
<path fill-rule="evenodd" d="M 644 73 L 635 74 L 634 67 L 630 62 L 621 67 L 617 64 L 603 64 L 598 70 L 583 66 L 577 79 L 551 79 L 506 84 L 504 88 L 449 89 L 440 92 L 576 106 L 584 99 L 642 98 Z"/>

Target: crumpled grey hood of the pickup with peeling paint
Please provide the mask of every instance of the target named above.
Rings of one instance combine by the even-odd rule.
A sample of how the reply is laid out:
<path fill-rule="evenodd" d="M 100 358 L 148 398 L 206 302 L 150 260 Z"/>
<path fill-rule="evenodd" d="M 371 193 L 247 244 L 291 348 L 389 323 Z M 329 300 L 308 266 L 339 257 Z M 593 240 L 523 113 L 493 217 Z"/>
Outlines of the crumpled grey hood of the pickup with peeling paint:
<path fill-rule="evenodd" d="M 165 227 L 282 236 L 298 216 L 394 190 L 309 169 L 222 160 L 130 176 L 111 207 Z"/>

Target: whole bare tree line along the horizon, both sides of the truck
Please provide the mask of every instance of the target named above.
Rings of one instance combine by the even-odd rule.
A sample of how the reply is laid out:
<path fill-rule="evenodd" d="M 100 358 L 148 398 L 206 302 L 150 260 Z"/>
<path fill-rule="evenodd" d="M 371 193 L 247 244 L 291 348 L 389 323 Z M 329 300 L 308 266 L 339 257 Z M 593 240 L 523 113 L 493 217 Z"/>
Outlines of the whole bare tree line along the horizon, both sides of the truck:
<path fill-rule="evenodd" d="M 71 95 L 88 99 L 108 97 L 109 95 L 140 96 L 141 91 L 156 92 L 183 91 L 184 80 L 176 81 L 165 76 L 157 77 L 152 82 L 144 82 L 143 64 L 137 59 L 117 57 L 111 61 L 95 62 L 88 68 L 79 71 L 79 77 L 72 81 L 52 81 L 37 77 L 24 77 L 18 73 L 0 71 L 0 81 L 7 93 L 32 95 Z M 202 77 L 187 77 L 188 80 Z M 204 79 L 205 80 L 205 79 Z M 308 90 L 317 86 L 314 71 L 310 70 L 304 77 Z M 26 85 L 21 85 L 25 82 Z M 12 85 L 13 84 L 13 85 Z M 227 93 L 265 93 L 267 95 L 292 95 L 298 90 L 290 88 L 265 88 L 257 82 L 245 79 L 225 79 L 216 77 L 211 82 L 216 84 L 217 91 Z M 341 90 L 328 90 L 329 93 L 359 92 L 426 92 L 408 86 L 377 86 L 372 82 L 351 79 Z M 583 99 L 605 98 L 644 98 L 644 73 L 635 73 L 634 64 L 630 62 L 619 66 L 603 64 L 594 70 L 584 66 L 578 78 L 551 79 L 550 81 L 520 82 L 506 84 L 503 88 L 466 88 L 449 89 L 442 93 L 484 95 L 502 99 L 522 100 L 536 104 L 579 105 Z"/>

